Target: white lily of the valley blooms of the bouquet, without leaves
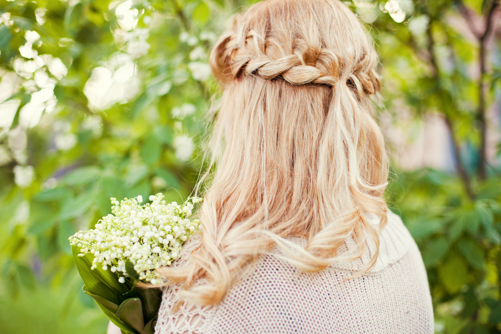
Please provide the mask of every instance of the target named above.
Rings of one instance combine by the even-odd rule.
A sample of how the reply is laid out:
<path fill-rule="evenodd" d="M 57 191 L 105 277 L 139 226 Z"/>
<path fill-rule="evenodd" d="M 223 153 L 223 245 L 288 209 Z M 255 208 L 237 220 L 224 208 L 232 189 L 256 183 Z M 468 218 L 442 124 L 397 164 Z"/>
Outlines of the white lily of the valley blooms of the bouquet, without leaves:
<path fill-rule="evenodd" d="M 200 229 L 200 221 L 189 217 L 193 204 L 201 201 L 193 197 L 182 205 L 166 204 L 163 197 L 152 195 L 152 203 L 145 205 L 140 205 L 141 196 L 120 203 L 111 198 L 113 214 L 99 220 L 95 229 L 75 233 L 70 243 L 81 247 L 78 256 L 94 255 L 91 269 L 98 265 L 103 270 L 110 267 L 121 283 L 129 276 L 125 270 L 127 259 L 134 264 L 140 280 L 160 283 L 156 269 L 178 258 L 183 243 Z"/>

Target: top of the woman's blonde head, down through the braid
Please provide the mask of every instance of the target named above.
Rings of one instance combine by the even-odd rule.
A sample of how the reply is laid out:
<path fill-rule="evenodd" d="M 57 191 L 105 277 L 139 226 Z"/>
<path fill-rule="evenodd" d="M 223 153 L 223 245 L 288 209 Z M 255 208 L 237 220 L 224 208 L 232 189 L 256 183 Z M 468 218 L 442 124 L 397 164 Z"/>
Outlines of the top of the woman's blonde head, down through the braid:
<path fill-rule="evenodd" d="M 271 0 L 234 18 L 211 54 L 214 77 L 281 77 L 293 85 L 348 82 L 357 94 L 380 89 L 377 55 L 357 17 L 340 1 Z"/>

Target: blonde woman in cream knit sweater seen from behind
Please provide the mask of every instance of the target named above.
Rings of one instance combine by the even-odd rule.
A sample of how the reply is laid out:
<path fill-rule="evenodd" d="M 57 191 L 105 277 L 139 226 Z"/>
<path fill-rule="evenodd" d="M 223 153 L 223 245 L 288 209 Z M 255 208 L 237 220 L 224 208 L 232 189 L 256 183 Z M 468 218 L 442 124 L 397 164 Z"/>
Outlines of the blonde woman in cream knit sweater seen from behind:
<path fill-rule="evenodd" d="M 224 92 L 202 233 L 163 271 L 156 333 L 433 333 L 421 256 L 382 198 L 377 55 L 356 16 L 259 3 L 210 65 Z"/>

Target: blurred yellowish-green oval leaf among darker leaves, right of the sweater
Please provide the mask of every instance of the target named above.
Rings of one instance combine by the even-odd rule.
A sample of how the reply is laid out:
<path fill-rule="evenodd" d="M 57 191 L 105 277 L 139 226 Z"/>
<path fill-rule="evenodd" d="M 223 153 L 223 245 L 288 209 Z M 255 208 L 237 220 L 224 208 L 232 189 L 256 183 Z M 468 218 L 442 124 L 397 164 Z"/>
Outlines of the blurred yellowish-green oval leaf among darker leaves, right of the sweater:
<path fill-rule="evenodd" d="M 459 292 L 463 284 L 466 283 L 467 275 L 466 263 L 456 254 L 452 254 L 438 266 L 438 277 L 445 290 L 450 294 Z"/>

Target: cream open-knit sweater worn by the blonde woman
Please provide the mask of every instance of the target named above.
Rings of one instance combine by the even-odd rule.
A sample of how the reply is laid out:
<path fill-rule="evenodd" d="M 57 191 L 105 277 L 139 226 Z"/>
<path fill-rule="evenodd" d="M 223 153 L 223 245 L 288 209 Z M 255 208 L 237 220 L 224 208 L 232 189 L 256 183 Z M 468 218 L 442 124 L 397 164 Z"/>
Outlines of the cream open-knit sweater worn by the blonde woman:
<path fill-rule="evenodd" d="M 189 261 L 189 252 L 199 242 L 199 238 L 190 239 L 173 265 Z M 300 238 L 294 242 L 302 247 L 307 243 Z M 347 239 L 342 251 L 354 245 Z M 155 334 L 433 333 L 426 271 L 400 217 L 389 212 L 376 265 L 342 282 L 369 261 L 374 246 L 368 246 L 361 258 L 333 262 L 318 273 L 296 270 L 274 250 L 262 256 L 255 270 L 217 305 L 184 303 L 172 312 L 180 287 L 169 286 L 163 293 Z"/>

